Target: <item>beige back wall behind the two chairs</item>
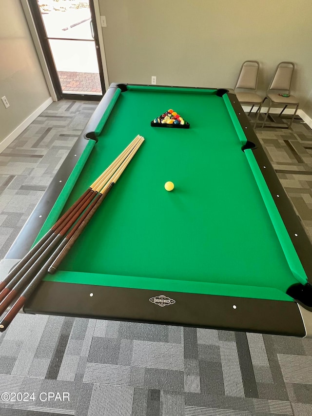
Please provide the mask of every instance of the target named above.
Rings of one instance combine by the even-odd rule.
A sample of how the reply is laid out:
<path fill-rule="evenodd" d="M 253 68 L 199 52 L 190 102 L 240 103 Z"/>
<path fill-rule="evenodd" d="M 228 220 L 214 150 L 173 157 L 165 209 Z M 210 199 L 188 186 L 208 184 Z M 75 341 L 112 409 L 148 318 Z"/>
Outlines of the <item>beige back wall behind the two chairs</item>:
<path fill-rule="evenodd" d="M 99 0 L 110 82 L 233 88 L 259 60 L 260 92 L 278 62 L 296 64 L 293 93 L 312 90 L 310 0 Z M 312 110 L 311 110 L 312 116 Z"/>

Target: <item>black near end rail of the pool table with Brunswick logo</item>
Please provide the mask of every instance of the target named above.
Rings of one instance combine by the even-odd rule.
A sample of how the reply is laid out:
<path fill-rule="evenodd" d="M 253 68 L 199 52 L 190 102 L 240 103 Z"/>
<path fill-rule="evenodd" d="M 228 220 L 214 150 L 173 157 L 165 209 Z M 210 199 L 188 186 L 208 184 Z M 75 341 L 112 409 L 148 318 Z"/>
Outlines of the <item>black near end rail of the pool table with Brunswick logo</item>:
<path fill-rule="evenodd" d="M 53 283 L 41 282 L 36 297 L 24 307 L 26 313 L 36 310 L 42 314 L 73 316 L 76 310 L 77 317 L 312 337 L 312 328 L 307 333 L 309 323 L 301 321 L 305 312 L 295 302 L 64 282 L 55 291 Z M 160 295 L 175 303 L 160 308 L 150 301 Z M 311 315 L 305 314 L 307 322 L 312 322 Z"/>

